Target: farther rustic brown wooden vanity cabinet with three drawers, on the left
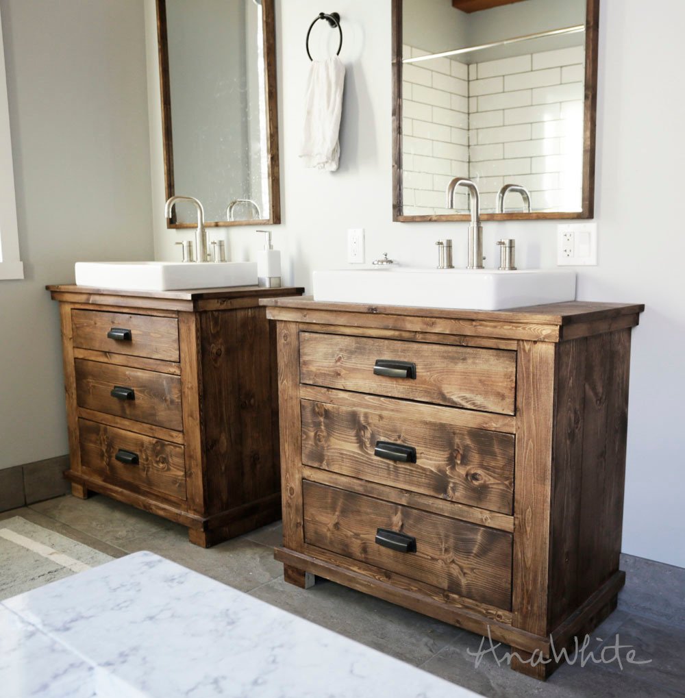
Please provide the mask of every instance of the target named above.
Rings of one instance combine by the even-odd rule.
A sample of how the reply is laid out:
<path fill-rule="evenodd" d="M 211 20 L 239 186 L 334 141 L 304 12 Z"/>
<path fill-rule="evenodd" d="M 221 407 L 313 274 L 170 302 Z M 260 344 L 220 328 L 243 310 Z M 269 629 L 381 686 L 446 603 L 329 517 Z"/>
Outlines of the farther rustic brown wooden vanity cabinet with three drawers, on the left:
<path fill-rule="evenodd" d="M 302 288 L 47 288 L 75 496 L 182 523 L 202 547 L 281 517 L 275 332 L 259 299 Z"/>

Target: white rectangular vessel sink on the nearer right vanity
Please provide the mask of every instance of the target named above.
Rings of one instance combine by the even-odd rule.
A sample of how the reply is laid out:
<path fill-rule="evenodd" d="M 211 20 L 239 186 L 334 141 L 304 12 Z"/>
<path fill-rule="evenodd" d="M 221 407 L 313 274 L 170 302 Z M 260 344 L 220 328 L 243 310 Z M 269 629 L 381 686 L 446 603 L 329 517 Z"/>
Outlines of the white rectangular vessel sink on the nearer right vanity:
<path fill-rule="evenodd" d="M 502 310 L 575 300 L 570 269 L 341 269 L 314 272 L 314 300 Z"/>

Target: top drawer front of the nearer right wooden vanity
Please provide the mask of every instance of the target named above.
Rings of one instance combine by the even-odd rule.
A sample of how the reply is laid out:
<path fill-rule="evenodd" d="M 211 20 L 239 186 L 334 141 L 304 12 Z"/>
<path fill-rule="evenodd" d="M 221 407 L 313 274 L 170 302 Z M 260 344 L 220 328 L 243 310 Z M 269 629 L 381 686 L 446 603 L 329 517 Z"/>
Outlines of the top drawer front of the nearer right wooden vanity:
<path fill-rule="evenodd" d="M 415 364 L 415 378 L 375 375 L 378 359 Z M 310 385 L 513 415 L 516 352 L 302 332 L 300 380 Z"/>

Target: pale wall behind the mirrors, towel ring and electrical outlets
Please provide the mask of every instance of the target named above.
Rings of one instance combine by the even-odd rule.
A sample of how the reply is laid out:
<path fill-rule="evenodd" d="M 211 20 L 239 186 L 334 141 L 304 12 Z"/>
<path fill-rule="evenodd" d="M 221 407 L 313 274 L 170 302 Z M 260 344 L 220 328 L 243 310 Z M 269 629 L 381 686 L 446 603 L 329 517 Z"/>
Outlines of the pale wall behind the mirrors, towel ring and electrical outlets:
<path fill-rule="evenodd" d="M 340 0 L 336 6 L 347 66 L 340 169 L 302 168 L 297 154 L 309 66 L 304 34 L 318 10 L 311 0 L 277 1 L 283 225 L 274 228 L 274 243 L 284 251 L 284 280 L 311 291 L 311 272 L 339 267 L 346 258 L 346 230 L 358 227 L 367 231 L 367 260 L 388 251 L 406 264 L 434 265 L 433 243 L 452 237 L 455 264 L 464 265 L 466 223 L 391 222 L 390 0 Z M 685 95 L 672 89 L 671 71 L 654 66 L 683 63 L 684 24 L 680 0 L 661 0 L 658 13 L 643 0 L 602 0 L 596 185 L 600 265 L 581 270 L 578 284 L 579 299 L 647 304 L 633 333 L 624 551 L 682 566 L 685 364 L 679 359 L 685 312 L 679 291 L 684 289 L 685 237 L 679 231 L 679 190 L 685 130 L 679 115 Z M 660 95 L 668 95 L 668 109 L 651 103 Z M 152 98 L 151 108 L 154 113 Z M 166 258 L 173 254 L 175 236 L 160 220 L 161 161 L 156 125 L 151 128 L 156 251 Z M 492 260 L 496 239 L 516 237 L 520 267 L 553 267 L 556 228 L 554 221 L 486 223 L 485 249 Z M 235 250 L 252 258 L 254 237 L 251 228 L 230 231 Z"/>

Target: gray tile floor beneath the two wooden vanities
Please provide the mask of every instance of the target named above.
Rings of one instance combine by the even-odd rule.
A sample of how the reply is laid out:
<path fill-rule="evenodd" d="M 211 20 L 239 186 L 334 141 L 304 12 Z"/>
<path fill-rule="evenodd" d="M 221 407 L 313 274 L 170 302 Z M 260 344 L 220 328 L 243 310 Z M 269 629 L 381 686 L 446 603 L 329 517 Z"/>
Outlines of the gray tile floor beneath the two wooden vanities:
<path fill-rule="evenodd" d="M 619 608 L 598 628 L 590 649 L 614 644 L 635 649 L 635 660 L 617 664 L 561 667 L 547 683 L 499 665 L 492 655 L 478 668 L 469 652 L 477 635 L 325 581 L 307 591 L 283 581 L 272 548 L 281 542 L 273 524 L 204 550 L 188 542 L 186 529 L 103 496 L 47 500 L 0 514 L 24 517 L 39 526 L 121 557 L 150 550 L 245 591 L 297 616 L 422 667 L 485 696 L 649 698 L 685 696 L 685 570 L 624 556 L 626 588 Z M 598 640 L 601 638 L 603 640 Z M 506 648 L 499 648 L 501 657 Z"/>

